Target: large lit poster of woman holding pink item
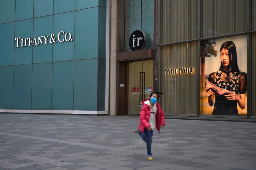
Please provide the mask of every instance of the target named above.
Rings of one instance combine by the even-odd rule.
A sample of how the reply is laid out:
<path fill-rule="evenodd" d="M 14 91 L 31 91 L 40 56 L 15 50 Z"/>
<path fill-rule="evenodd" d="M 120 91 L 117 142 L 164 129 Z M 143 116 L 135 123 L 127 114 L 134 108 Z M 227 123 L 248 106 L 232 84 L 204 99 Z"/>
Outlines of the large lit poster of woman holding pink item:
<path fill-rule="evenodd" d="M 201 114 L 247 114 L 246 35 L 201 42 Z"/>

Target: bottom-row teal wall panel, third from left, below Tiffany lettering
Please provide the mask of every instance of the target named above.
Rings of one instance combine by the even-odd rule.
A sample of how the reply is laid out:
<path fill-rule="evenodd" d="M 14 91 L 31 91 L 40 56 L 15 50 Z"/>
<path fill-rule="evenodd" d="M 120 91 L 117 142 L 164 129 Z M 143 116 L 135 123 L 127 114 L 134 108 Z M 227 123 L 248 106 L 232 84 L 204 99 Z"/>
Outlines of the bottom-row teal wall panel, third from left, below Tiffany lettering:
<path fill-rule="evenodd" d="M 32 110 L 52 109 L 52 63 L 33 64 Z"/>

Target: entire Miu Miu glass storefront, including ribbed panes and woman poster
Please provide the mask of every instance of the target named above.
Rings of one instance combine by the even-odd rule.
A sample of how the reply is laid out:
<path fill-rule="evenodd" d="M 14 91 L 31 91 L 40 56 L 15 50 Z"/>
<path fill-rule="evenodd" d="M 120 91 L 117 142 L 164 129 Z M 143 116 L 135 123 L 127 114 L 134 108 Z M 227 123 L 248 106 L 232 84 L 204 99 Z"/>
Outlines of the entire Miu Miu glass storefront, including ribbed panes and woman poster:
<path fill-rule="evenodd" d="M 246 35 L 248 28 L 256 30 L 255 0 L 163 0 L 160 3 L 158 89 L 164 92 L 160 102 L 165 113 L 197 114 L 200 110 L 201 115 L 246 117 L 247 83 L 256 83 L 253 74 L 256 33 L 250 36 L 250 77 L 247 76 Z M 197 44 L 200 48 L 196 48 L 196 40 L 200 40 L 200 45 Z M 252 86 L 250 93 L 251 90 L 252 101 L 248 107 L 252 116 L 256 116 L 256 88 Z"/>

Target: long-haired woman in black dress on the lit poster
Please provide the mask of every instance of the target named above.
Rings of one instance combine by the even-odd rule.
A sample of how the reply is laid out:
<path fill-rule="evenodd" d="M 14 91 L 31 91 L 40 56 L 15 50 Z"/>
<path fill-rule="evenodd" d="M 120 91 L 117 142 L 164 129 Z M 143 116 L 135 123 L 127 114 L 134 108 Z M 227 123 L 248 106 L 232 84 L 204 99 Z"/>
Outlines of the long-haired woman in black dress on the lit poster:
<path fill-rule="evenodd" d="M 220 60 L 220 69 L 211 73 L 206 83 L 208 103 L 212 106 L 215 97 L 212 115 L 238 115 L 237 103 L 241 109 L 245 108 L 247 80 L 246 73 L 238 68 L 234 42 L 221 45 Z"/>

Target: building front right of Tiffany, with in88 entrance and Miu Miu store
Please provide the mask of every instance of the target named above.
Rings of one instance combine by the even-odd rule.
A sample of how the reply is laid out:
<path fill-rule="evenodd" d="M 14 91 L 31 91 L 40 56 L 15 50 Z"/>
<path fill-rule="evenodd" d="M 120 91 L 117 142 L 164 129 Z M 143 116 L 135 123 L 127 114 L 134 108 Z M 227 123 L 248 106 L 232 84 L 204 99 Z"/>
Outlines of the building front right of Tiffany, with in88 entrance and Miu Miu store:
<path fill-rule="evenodd" d="M 118 1 L 117 114 L 138 115 L 152 89 L 164 93 L 167 117 L 255 118 L 255 9 L 254 0 Z M 136 30 L 144 48 L 133 39 Z M 132 39 L 142 48 L 129 48 Z M 228 72 L 224 44 L 236 51 L 227 53 Z M 208 97 L 208 82 L 236 95 Z"/>

